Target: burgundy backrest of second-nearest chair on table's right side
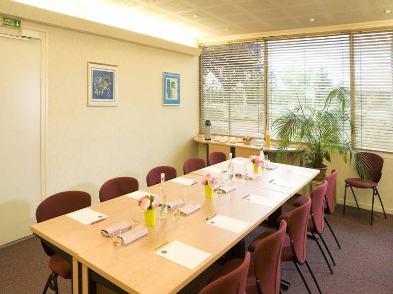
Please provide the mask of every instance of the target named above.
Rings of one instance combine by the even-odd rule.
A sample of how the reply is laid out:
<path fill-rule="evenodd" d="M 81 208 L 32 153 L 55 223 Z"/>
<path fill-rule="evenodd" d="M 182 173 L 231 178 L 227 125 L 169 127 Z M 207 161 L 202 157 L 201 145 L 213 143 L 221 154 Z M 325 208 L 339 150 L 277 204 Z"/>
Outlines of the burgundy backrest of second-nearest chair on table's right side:
<path fill-rule="evenodd" d="M 277 294 L 281 286 L 281 251 L 286 222 L 280 229 L 259 243 L 254 250 L 254 273 L 263 294 Z"/>

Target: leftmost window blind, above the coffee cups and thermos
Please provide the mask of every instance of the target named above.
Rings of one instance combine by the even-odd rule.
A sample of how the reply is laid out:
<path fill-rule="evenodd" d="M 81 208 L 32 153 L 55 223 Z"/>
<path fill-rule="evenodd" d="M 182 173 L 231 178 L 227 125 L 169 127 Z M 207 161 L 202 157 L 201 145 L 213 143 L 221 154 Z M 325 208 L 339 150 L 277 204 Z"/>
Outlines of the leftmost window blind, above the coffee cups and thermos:
<path fill-rule="evenodd" d="M 204 47 L 200 58 L 202 131 L 210 120 L 213 133 L 263 133 L 263 42 Z"/>

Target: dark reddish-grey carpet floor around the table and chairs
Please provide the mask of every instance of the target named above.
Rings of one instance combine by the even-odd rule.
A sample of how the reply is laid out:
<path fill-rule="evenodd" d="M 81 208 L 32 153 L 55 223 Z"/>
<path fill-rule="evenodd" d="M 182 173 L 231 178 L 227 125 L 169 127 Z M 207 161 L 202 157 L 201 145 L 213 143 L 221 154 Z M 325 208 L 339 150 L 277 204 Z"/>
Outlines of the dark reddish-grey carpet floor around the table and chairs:
<path fill-rule="evenodd" d="M 294 197 L 295 198 L 295 197 Z M 292 209 L 292 201 L 285 203 L 283 210 Z M 312 239 L 308 240 L 307 259 L 324 294 L 393 294 L 393 216 L 385 220 L 382 213 L 374 213 L 374 225 L 370 226 L 370 212 L 337 205 L 335 214 L 328 216 L 342 249 L 338 249 L 333 236 L 326 227 L 323 233 L 337 266 L 334 274 Z M 259 234 L 270 228 L 258 226 L 247 236 L 246 245 Z M 0 294 L 42 293 L 50 273 L 49 257 L 43 251 L 37 238 L 32 237 L 0 249 Z M 181 294 L 197 294 L 220 267 L 213 264 Z M 309 282 L 312 293 L 317 293 L 306 268 L 302 270 Z M 292 263 L 282 263 L 282 277 L 292 282 L 286 294 L 307 293 L 306 288 Z M 60 294 L 71 293 L 70 280 L 58 278 Z M 53 293 L 51 290 L 48 294 Z M 224 293 L 223 293 L 224 294 Z"/>

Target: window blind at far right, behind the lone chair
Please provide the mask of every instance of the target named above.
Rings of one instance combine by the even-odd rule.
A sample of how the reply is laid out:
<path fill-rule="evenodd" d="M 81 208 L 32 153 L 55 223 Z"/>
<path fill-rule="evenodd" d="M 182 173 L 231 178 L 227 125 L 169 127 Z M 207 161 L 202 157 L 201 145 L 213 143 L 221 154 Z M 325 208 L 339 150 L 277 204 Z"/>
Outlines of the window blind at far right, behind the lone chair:
<path fill-rule="evenodd" d="M 354 33 L 359 148 L 393 151 L 393 31 Z"/>

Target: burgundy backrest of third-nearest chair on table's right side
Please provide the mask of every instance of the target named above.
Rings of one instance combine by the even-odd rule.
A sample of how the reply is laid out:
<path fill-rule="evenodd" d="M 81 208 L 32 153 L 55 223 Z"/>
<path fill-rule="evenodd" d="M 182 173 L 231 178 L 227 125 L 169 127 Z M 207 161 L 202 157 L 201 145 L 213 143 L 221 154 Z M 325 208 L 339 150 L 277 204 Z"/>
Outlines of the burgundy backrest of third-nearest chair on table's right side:
<path fill-rule="evenodd" d="M 303 263 L 307 253 L 307 223 L 311 207 L 310 197 L 306 202 L 292 211 L 288 221 L 289 238 L 297 262 Z"/>

